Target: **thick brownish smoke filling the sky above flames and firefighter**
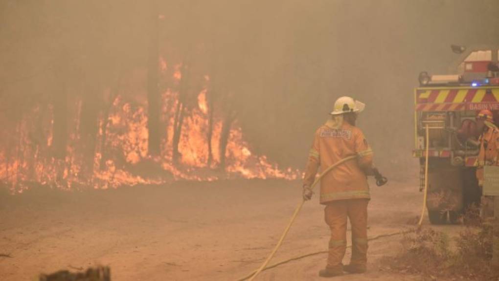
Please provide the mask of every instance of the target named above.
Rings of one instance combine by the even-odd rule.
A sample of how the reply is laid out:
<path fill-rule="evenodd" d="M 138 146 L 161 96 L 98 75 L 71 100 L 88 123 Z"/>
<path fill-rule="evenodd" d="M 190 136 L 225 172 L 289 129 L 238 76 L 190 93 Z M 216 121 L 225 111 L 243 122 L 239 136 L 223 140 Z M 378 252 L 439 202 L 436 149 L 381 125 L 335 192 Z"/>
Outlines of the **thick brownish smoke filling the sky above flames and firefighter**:
<path fill-rule="evenodd" d="M 230 93 L 255 152 L 302 168 L 334 100 L 352 96 L 367 105 L 358 126 L 388 169 L 416 161 L 418 73 L 452 71 L 451 44 L 499 45 L 498 12 L 495 0 L 5 0 L 1 122 L 60 88 L 85 95 L 133 77 L 157 32 L 168 62 L 188 61 Z"/>

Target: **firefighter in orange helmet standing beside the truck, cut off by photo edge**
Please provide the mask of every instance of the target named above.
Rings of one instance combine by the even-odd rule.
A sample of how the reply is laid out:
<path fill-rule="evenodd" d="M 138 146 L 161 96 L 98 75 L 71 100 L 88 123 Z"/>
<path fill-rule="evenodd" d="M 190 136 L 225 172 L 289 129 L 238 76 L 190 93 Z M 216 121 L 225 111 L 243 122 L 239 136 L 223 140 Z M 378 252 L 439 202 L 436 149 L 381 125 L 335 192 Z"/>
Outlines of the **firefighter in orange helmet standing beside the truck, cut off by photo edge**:
<path fill-rule="evenodd" d="M 499 166 L 499 129 L 494 124 L 494 115 L 490 110 L 482 110 L 477 115 L 477 129 L 481 133 L 480 152 L 478 154 L 477 179 L 481 189 L 484 185 L 484 166 Z M 482 196 L 482 210 L 485 218 L 493 216 L 492 198 Z"/>

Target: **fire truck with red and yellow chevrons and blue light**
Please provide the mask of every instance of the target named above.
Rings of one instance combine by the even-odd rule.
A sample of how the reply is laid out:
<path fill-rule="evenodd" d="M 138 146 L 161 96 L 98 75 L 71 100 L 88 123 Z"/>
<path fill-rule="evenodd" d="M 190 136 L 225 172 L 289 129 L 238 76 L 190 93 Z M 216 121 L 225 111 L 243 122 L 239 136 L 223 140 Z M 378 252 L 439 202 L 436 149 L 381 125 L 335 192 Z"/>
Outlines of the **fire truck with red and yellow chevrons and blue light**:
<path fill-rule="evenodd" d="M 420 191 L 428 156 L 426 206 L 432 224 L 456 223 L 468 206 L 479 205 L 475 173 L 481 132 L 475 118 L 489 109 L 499 121 L 499 47 L 451 47 L 460 54 L 455 74 L 421 72 L 414 90 L 413 156 L 420 159 Z"/>

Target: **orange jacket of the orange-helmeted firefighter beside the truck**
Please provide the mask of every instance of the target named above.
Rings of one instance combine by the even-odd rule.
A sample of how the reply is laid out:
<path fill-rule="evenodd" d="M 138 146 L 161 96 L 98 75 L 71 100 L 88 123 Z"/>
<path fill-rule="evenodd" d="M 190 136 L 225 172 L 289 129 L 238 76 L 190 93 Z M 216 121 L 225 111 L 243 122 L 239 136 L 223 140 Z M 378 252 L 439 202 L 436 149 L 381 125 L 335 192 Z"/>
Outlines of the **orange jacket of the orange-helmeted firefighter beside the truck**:
<path fill-rule="evenodd" d="M 484 184 L 484 166 L 499 166 L 499 129 L 491 123 L 486 125 L 487 131 L 479 138 L 477 179 L 480 186 Z"/>

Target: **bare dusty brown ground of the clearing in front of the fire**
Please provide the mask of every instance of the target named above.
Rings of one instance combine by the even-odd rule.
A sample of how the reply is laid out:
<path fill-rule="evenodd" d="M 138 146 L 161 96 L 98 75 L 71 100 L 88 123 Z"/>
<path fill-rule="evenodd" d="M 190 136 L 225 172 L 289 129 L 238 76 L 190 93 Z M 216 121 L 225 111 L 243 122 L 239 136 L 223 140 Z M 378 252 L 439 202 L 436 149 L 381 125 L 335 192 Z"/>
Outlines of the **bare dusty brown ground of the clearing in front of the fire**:
<path fill-rule="evenodd" d="M 237 280 L 256 269 L 300 200 L 299 182 L 177 182 L 117 190 L 31 190 L 0 195 L 0 279 L 109 265 L 113 281 Z M 417 178 L 372 185 L 369 236 L 407 227 L 420 212 Z M 325 250 L 329 234 L 315 195 L 272 262 Z M 426 224 L 428 224 L 426 222 Z M 456 227 L 446 227 L 457 231 Z M 420 280 L 381 271 L 400 236 L 370 242 L 369 272 L 334 280 Z M 347 251 L 347 258 L 349 251 Z M 321 280 L 325 254 L 263 272 L 258 280 Z"/>

